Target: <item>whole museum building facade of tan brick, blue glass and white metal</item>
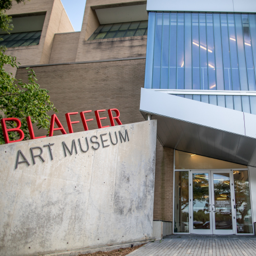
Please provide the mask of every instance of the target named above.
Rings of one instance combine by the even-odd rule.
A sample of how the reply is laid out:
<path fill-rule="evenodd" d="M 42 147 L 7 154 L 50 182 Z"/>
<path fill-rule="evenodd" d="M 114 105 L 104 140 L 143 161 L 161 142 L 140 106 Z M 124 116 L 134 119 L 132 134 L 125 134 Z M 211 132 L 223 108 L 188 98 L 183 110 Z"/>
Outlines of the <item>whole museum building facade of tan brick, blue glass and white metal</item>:
<path fill-rule="evenodd" d="M 80 32 L 60 0 L 8 13 L 24 24 L 1 43 L 21 63 L 15 76 L 35 70 L 65 129 L 65 113 L 99 108 L 119 109 L 124 124 L 158 120 L 155 227 L 254 234 L 253 1 L 87 0 Z M 28 29 L 28 19 L 37 26 Z"/>

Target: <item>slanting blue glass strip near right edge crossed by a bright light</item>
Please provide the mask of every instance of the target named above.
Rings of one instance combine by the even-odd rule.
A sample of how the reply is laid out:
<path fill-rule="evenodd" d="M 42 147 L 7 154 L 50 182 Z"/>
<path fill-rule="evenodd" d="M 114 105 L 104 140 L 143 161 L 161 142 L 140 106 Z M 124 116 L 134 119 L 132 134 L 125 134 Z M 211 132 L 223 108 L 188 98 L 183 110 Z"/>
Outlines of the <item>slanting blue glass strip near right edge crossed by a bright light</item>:
<path fill-rule="evenodd" d="M 255 90 L 252 43 L 251 43 L 251 36 L 250 36 L 249 19 L 247 14 L 242 14 L 242 22 L 243 22 L 243 32 L 244 32 L 244 49 L 245 49 L 248 87 L 249 87 L 249 90 Z"/>

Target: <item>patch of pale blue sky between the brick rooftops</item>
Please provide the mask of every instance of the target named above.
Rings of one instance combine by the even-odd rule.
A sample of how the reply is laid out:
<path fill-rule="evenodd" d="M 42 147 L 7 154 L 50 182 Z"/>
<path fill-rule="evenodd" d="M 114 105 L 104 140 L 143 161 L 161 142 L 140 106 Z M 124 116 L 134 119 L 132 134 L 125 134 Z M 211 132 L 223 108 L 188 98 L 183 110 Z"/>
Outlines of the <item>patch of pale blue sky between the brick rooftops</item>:
<path fill-rule="evenodd" d="M 75 31 L 80 31 L 86 0 L 61 0 Z"/>

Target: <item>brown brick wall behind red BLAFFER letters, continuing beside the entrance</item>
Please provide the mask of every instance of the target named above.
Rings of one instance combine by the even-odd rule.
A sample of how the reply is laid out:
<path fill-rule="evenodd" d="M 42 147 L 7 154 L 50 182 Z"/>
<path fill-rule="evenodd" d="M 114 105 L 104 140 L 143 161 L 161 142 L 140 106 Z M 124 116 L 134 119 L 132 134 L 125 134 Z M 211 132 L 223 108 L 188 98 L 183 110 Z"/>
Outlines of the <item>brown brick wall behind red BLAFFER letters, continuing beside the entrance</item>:
<path fill-rule="evenodd" d="M 33 68 L 38 84 L 49 90 L 51 101 L 59 110 L 57 117 L 68 132 L 65 113 L 85 110 L 117 108 L 123 124 L 144 121 L 139 112 L 141 87 L 144 86 L 145 59 L 94 62 L 82 64 L 48 65 Z M 27 70 L 18 69 L 17 79 L 26 80 Z M 108 114 L 101 113 L 108 117 Z M 86 114 L 89 129 L 97 129 L 93 112 Z M 72 115 L 71 121 L 80 120 Z M 109 119 L 102 125 L 110 125 Z M 82 131 L 82 123 L 73 125 L 74 132 Z M 36 130 L 36 135 L 46 135 L 45 130 Z M 56 131 L 55 135 L 60 135 Z M 174 150 L 163 148 L 157 141 L 154 219 L 172 221 Z"/>

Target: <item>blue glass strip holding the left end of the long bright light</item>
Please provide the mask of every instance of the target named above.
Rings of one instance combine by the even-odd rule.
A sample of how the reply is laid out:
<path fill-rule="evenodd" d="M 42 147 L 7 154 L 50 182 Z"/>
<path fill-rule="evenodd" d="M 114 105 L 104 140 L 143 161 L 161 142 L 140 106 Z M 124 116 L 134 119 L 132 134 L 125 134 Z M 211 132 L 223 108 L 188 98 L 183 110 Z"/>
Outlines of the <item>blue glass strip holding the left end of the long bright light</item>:
<path fill-rule="evenodd" d="M 200 89 L 199 15 L 192 13 L 193 89 Z"/>

